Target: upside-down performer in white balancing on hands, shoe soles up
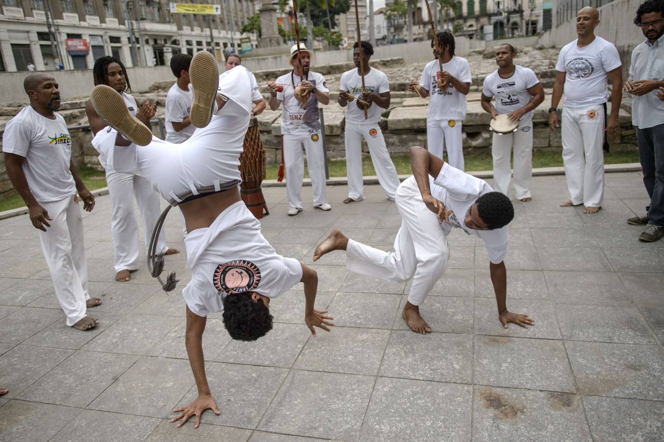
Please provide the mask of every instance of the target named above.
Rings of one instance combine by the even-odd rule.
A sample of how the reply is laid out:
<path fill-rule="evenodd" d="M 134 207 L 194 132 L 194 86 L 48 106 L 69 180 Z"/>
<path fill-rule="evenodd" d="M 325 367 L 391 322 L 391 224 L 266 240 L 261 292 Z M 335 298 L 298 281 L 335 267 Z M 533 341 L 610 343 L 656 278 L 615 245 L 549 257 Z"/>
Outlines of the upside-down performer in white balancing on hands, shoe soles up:
<path fill-rule="evenodd" d="M 114 156 L 123 149 L 133 153 L 137 173 L 147 177 L 171 205 L 177 204 L 187 222 L 185 245 L 192 278 L 182 291 L 187 302 L 185 343 L 199 397 L 174 411 L 180 414 L 171 421 L 182 419 L 178 426 L 195 415 L 198 427 L 208 408 L 219 414 L 203 358 L 208 313 L 224 312 L 224 326 L 232 338 L 255 340 L 272 329 L 270 299 L 301 281 L 305 323 L 311 333 L 315 336 L 313 327 L 329 331 L 328 326 L 333 325 L 329 322 L 332 318 L 325 316 L 327 311 L 313 308 L 316 272 L 297 259 L 276 254 L 262 236 L 260 222 L 240 198 L 238 165 L 251 108 L 246 72 L 235 68 L 218 82 L 214 57 L 208 52 L 195 54 L 189 72 L 194 92 L 191 121 L 199 129 L 181 144 L 153 137 L 112 89 L 96 86 L 92 90 L 94 107 L 110 125 L 98 132 L 92 143 L 110 150 L 106 155 Z M 108 143 L 109 137 L 124 141 Z M 169 284 L 176 282 L 171 277 L 169 280 Z"/>

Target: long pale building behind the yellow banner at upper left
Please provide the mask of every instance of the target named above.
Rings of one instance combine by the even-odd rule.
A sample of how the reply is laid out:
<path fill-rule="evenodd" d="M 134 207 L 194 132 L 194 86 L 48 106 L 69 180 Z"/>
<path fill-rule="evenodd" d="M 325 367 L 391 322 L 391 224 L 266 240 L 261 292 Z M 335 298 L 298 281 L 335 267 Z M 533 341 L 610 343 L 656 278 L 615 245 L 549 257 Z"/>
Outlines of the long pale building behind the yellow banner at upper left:
<path fill-rule="evenodd" d="M 199 50 L 221 61 L 224 48 L 240 48 L 242 24 L 260 1 L 214 3 L 220 15 L 174 14 L 165 0 L 1 0 L 0 71 L 31 63 L 37 70 L 90 69 L 105 55 L 128 67 L 161 66 L 173 54 Z M 257 36 L 250 38 L 255 47 Z"/>

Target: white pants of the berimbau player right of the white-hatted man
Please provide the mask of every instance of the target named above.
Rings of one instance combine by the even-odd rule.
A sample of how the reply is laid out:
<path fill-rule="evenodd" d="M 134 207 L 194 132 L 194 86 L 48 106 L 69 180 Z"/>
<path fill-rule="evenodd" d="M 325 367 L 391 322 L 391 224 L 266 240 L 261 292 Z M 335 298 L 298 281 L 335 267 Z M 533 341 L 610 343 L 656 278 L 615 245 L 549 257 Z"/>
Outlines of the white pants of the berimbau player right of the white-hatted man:
<path fill-rule="evenodd" d="M 354 124 L 346 121 L 346 172 L 348 175 L 348 197 L 359 201 L 365 199 L 364 181 L 362 176 L 362 137 L 367 140 L 369 155 L 378 176 L 378 183 L 382 186 L 388 198 L 394 199 L 396 188 L 399 186 L 399 177 L 390 153 L 387 151 L 385 139 L 378 124 Z"/>

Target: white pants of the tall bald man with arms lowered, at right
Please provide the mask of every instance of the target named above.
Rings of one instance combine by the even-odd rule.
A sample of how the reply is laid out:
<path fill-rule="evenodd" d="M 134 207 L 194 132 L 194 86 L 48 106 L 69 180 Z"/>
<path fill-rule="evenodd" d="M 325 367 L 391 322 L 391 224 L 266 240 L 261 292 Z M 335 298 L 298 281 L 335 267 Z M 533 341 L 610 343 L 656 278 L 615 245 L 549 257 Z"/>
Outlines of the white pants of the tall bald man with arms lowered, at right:
<path fill-rule="evenodd" d="M 591 118 L 592 116 L 592 118 Z M 562 109 L 562 162 L 572 204 L 604 200 L 604 108 Z"/>

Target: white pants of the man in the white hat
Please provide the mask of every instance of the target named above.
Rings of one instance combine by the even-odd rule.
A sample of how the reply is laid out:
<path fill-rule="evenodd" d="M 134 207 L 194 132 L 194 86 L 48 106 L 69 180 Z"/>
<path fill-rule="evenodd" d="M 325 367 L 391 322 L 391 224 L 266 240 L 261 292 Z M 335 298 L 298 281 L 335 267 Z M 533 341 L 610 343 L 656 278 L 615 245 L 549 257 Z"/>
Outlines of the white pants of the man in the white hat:
<path fill-rule="evenodd" d="M 302 180 L 304 179 L 304 155 L 307 152 L 307 169 L 313 187 L 313 205 L 327 202 L 325 190 L 325 153 L 320 133 L 313 135 L 282 135 L 284 137 L 284 166 L 286 167 L 286 194 L 289 208 L 302 208 Z M 314 141 L 315 138 L 316 141 Z"/>

